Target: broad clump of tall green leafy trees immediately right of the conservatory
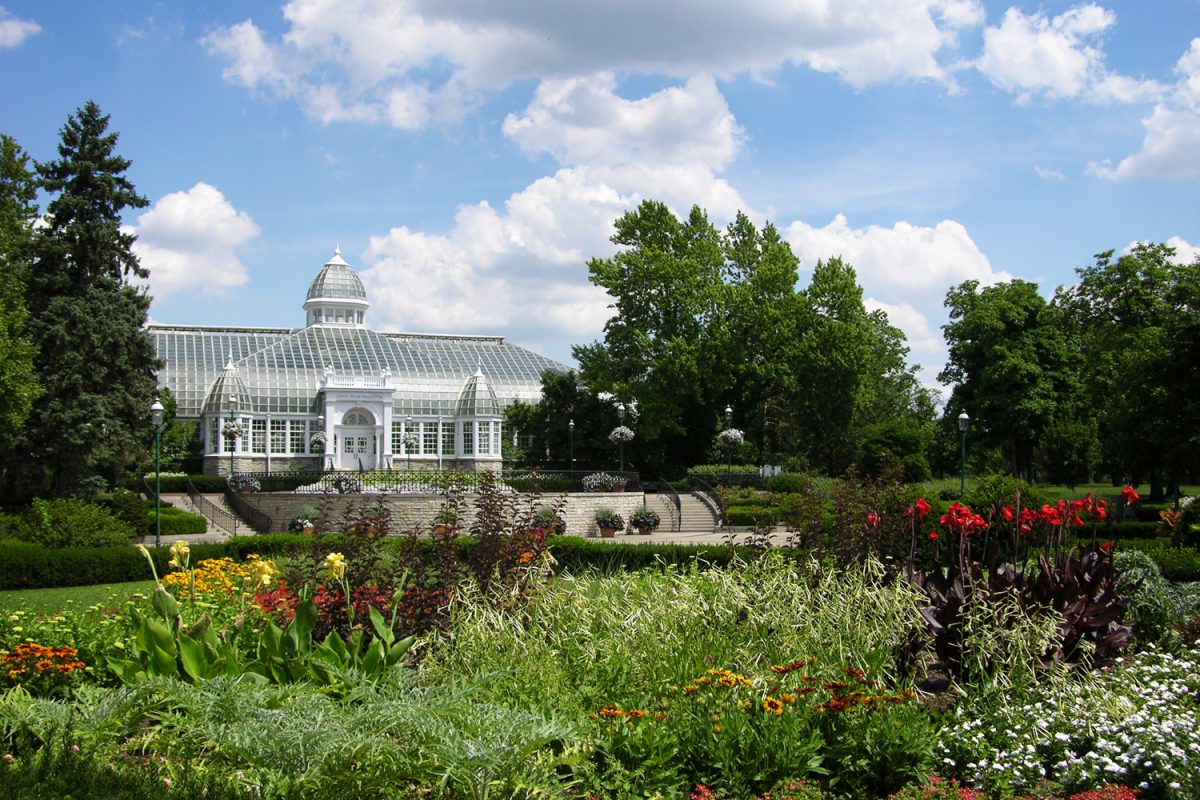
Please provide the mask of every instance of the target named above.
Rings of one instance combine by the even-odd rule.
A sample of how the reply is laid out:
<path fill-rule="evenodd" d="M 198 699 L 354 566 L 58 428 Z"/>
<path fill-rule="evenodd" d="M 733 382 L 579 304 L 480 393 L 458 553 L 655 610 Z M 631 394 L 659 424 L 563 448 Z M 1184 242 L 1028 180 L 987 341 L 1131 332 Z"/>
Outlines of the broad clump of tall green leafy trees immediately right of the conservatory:
<path fill-rule="evenodd" d="M 883 408 L 930 423 L 904 335 L 865 309 L 841 259 L 818 263 L 798 289 L 791 247 L 744 213 L 719 230 L 700 207 L 680 219 L 647 200 L 614 228 L 620 249 L 588 263 L 614 314 L 602 342 L 574 353 L 586 391 L 637 401 L 626 457 L 644 473 L 703 462 L 725 408 L 762 461 L 827 471 L 854 461 Z"/>

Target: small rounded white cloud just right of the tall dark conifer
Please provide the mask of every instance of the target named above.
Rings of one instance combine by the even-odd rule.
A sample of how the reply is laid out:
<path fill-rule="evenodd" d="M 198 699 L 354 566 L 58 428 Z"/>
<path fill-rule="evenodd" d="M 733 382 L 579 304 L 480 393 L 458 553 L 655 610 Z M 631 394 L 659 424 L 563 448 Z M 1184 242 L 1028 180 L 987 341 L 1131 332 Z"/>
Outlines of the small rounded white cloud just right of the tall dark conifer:
<path fill-rule="evenodd" d="M 250 278 L 236 248 L 259 228 L 212 186 L 200 182 L 158 199 L 130 229 L 133 252 L 150 270 L 150 293 L 164 297 L 192 290 L 220 296 Z"/>

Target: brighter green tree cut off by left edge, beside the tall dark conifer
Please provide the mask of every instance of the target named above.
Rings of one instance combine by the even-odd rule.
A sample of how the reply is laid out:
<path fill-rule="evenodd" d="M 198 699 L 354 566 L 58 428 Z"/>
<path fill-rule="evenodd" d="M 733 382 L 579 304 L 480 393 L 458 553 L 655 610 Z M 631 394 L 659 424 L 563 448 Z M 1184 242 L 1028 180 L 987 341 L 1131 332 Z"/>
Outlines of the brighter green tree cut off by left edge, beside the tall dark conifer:
<path fill-rule="evenodd" d="M 32 257 L 36 187 L 29 158 L 0 136 L 0 462 L 7 462 L 38 395 L 34 343 L 25 333 L 25 281 Z"/>

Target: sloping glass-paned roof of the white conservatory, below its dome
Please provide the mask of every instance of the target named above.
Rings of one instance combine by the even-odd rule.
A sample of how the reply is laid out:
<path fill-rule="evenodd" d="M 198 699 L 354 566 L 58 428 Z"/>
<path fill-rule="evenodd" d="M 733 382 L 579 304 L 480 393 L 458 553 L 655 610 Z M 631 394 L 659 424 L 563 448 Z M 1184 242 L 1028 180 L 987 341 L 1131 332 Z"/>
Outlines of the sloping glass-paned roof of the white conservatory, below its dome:
<path fill-rule="evenodd" d="M 552 359 L 500 337 L 378 333 L 314 325 L 281 329 L 220 329 L 151 325 L 160 359 L 160 383 L 175 396 L 180 417 L 198 417 L 214 381 L 233 357 L 252 414 L 314 415 L 323 371 L 336 375 L 391 373 L 397 414 L 450 416 L 476 367 L 503 408 L 541 397 L 541 373 L 565 372 Z M 227 395 L 228 392 L 224 392 Z"/>

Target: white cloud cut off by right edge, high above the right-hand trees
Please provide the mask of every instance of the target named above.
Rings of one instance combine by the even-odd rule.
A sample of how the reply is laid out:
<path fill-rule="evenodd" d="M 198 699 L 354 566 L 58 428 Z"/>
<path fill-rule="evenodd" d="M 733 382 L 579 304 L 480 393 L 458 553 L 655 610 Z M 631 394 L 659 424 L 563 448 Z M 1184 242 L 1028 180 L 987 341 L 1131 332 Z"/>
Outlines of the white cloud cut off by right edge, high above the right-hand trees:
<path fill-rule="evenodd" d="M 1200 178 L 1200 37 L 1175 65 L 1177 82 L 1141 124 L 1146 128 L 1141 149 L 1110 167 L 1093 163 L 1088 172 L 1100 178 L 1126 180 Z"/>

